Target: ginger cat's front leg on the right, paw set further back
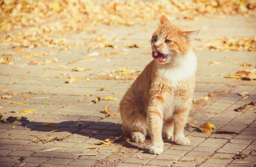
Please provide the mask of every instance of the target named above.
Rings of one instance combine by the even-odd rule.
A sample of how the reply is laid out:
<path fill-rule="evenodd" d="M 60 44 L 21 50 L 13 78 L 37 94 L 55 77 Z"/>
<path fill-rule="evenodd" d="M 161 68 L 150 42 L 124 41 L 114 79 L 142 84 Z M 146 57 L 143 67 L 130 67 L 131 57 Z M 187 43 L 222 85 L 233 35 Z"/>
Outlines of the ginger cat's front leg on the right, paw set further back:
<path fill-rule="evenodd" d="M 189 107 L 183 108 L 173 114 L 174 123 L 174 142 L 177 145 L 189 145 L 190 141 L 184 136 L 184 127 L 186 125 L 186 118 L 189 114 Z"/>

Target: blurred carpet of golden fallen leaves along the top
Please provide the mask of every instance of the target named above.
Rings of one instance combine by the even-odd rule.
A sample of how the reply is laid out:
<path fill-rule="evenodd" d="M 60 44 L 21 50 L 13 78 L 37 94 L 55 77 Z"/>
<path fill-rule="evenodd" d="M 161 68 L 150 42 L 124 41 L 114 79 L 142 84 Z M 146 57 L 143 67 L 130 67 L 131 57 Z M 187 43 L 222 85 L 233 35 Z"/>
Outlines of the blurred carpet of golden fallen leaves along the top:
<path fill-rule="evenodd" d="M 88 27 L 101 24 L 143 26 L 151 20 L 159 19 L 161 15 L 167 15 L 172 22 L 200 22 L 205 18 L 213 20 L 210 24 L 196 27 L 200 29 L 211 29 L 219 24 L 214 23 L 214 19 L 225 20 L 227 16 L 241 16 L 250 27 L 247 32 L 234 32 L 241 38 L 231 40 L 224 38 L 223 35 L 223 39 L 220 40 L 216 39 L 218 36 L 207 36 L 205 40 L 211 38 L 214 41 L 201 42 L 200 46 L 202 49 L 255 51 L 255 18 L 248 18 L 256 15 L 255 0 L 0 0 L 0 45 L 51 45 L 67 50 L 76 45 L 89 45 L 90 42 L 67 43 L 67 40 L 60 36 L 85 32 L 88 31 Z M 236 21 L 231 24 L 234 28 L 238 27 Z M 239 26 L 247 25 L 241 23 Z M 223 31 L 234 31 L 230 28 Z M 91 29 L 92 31 L 95 30 Z M 16 35 L 11 35 L 13 33 Z M 109 41 L 99 44 L 102 40 L 100 36 L 96 40 L 97 44 L 94 43 L 92 47 L 109 46 Z"/>

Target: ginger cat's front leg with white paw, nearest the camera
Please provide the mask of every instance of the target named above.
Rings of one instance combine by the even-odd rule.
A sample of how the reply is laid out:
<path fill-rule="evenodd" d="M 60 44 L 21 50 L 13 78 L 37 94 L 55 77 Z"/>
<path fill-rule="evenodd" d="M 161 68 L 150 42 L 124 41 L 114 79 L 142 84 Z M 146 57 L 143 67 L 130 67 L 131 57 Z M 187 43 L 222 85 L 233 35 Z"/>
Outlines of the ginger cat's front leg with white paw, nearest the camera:
<path fill-rule="evenodd" d="M 151 102 L 152 106 L 148 107 L 148 122 L 150 126 L 150 136 L 152 145 L 149 149 L 151 154 L 161 154 L 164 151 L 164 142 L 162 139 L 162 103 Z"/>

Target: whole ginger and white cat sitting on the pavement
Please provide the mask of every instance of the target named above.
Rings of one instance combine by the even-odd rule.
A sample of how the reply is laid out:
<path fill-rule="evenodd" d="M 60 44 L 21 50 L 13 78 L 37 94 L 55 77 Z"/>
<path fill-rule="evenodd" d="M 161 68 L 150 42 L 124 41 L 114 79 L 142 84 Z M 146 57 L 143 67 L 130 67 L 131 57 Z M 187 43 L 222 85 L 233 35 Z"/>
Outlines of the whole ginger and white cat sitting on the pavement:
<path fill-rule="evenodd" d="M 184 31 L 161 16 L 151 39 L 152 60 L 120 102 L 122 130 L 136 143 L 151 137 L 151 154 L 161 154 L 162 138 L 189 145 L 184 126 L 195 88 L 197 59 L 191 42 L 200 30 Z"/>

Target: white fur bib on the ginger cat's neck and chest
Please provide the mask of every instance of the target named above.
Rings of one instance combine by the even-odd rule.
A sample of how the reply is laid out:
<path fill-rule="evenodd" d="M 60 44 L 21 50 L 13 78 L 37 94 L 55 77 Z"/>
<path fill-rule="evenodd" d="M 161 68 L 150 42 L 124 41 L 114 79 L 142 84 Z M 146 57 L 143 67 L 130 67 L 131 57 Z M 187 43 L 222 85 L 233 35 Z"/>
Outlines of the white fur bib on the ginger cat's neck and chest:
<path fill-rule="evenodd" d="M 170 80 L 173 86 L 177 86 L 178 82 L 186 78 L 190 78 L 195 74 L 197 67 L 197 58 L 193 51 L 189 51 L 184 58 L 179 60 L 179 65 L 171 67 L 166 64 L 157 71 L 159 75 Z"/>

